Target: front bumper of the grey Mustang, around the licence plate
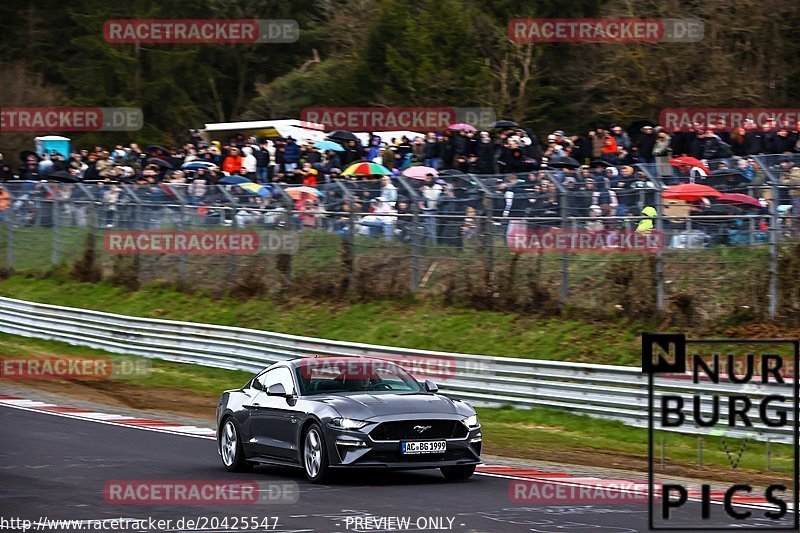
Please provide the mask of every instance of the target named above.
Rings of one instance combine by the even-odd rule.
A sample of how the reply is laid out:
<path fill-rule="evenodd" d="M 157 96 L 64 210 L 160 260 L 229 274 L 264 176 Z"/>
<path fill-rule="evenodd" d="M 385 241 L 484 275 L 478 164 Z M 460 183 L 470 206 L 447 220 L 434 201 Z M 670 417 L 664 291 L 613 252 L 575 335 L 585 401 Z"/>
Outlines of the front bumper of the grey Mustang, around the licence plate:
<path fill-rule="evenodd" d="M 328 429 L 330 466 L 392 469 L 441 468 L 443 466 L 477 465 L 481 462 L 483 444 L 480 427 L 469 430 L 464 438 L 373 440 L 368 433 Z M 445 440 L 444 453 L 403 454 L 401 442 L 413 440 Z"/>

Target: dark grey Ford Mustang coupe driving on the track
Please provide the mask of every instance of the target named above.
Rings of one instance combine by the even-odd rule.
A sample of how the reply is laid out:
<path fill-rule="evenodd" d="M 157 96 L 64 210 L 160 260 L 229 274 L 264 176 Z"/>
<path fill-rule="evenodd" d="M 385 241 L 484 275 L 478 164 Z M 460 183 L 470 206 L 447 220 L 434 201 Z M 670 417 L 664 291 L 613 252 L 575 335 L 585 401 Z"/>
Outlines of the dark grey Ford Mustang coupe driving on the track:
<path fill-rule="evenodd" d="M 481 426 L 466 402 L 437 394 L 400 366 L 362 357 L 276 363 L 217 405 L 222 463 L 301 467 L 312 482 L 334 468 L 439 468 L 467 479 L 481 462 Z"/>

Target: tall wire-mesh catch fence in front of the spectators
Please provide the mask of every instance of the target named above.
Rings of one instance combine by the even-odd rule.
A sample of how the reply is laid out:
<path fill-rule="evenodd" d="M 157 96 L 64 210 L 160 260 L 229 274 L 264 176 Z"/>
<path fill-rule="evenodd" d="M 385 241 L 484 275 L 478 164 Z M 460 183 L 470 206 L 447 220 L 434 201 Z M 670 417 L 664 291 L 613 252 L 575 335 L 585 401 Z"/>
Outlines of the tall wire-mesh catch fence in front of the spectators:
<path fill-rule="evenodd" d="M 0 196 L 0 262 L 15 270 L 68 263 L 87 279 L 246 296 L 421 292 L 524 312 L 774 317 L 800 305 L 792 274 L 800 258 L 790 246 L 800 235 L 800 185 L 787 179 L 784 156 L 754 161 L 749 177 L 731 177 L 719 161 L 705 179 L 666 174 L 658 164 L 445 172 L 440 183 L 349 179 L 305 194 L 275 184 L 266 196 L 235 186 L 9 182 Z M 746 203 L 665 198 L 670 185 L 690 181 Z M 240 230 L 291 236 L 298 246 L 246 255 L 119 254 L 105 246 L 109 232 Z M 558 234 L 603 239 L 548 246 Z M 659 244 L 625 244 L 642 235 L 658 235 Z"/>

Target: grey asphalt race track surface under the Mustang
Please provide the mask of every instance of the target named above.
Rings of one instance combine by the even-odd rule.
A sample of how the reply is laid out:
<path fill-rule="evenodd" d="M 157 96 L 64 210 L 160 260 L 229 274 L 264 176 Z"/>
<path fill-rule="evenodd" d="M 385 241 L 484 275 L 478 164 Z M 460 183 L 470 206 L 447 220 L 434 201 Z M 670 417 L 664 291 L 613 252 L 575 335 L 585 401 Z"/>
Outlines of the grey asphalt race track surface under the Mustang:
<path fill-rule="evenodd" d="M 358 471 L 318 486 L 306 482 L 300 470 L 261 467 L 252 473 L 228 473 L 210 438 L 8 407 L 0 407 L 0 428 L 0 516 L 5 518 L 176 520 L 256 516 L 271 517 L 268 528 L 262 530 L 282 532 L 399 530 L 396 522 L 359 523 L 355 521 L 358 517 L 407 517 L 410 527 L 405 530 L 411 531 L 647 530 L 645 505 L 516 504 L 509 497 L 511 480 L 501 477 L 475 475 L 466 482 L 448 483 L 438 471 Z M 105 501 L 104 487 L 109 480 L 253 480 L 262 485 L 293 482 L 299 493 L 293 504 L 120 505 Z M 65 531 L 39 529 L 50 530 Z M 172 526 L 170 530 L 196 529 Z M 218 527 L 213 531 L 234 529 Z"/>

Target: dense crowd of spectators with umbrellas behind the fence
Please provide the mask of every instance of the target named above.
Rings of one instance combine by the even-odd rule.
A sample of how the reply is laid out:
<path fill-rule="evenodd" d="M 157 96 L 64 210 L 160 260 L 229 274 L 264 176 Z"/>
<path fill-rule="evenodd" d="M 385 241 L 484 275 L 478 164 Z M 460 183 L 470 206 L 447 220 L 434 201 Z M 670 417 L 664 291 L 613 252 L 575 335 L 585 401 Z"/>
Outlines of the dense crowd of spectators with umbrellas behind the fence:
<path fill-rule="evenodd" d="M 298 225 L 346 233 L 352 231 L 355 215 L 361 233 L 411 238 L 409 226 L 416 213 L 423 215 L 422 231 L 430 241 L 460 245 L 477 235 L 482 214 L 498 220 L 538 217 L 543 224 L 565 212 L 597 219 L 640 215 L 653 205 L 655 177 L 667 185 L 702 181 L 758 197 L 751 186 L 758 183 L 760 169 L 752 156 L 783 154 L 782 182 L 797 189 L 787 190 L 778 200 L 800 212 L 796 165 L 800 122 L 771 120 L 761 127 L 746 123 L 734 131 L 727 131 L 724 124 L 695 124 L 672 132 L 651 124 L 628 131 L 612 124 L 585 135 L 556 130 L 541 139 L 527 128 L 491 131 L 429 132 L 413 139 L 372 136 L 366 146 L 341 141 L 337 151 L 320 150 L 311 140 L 291 137 L 237 135 L 224 144 L 206 142 L 193 131 L 179 148 L 95 146 L 69 157 L 25 152 L 17 168 L 0 155 L 0 181 L 36 183 L 27 188 L 29 196 L 53 194 L 53 188 L 41 187 L 43 182 L 67 182 L 57 188 L 64 198 L 86 194 L 88 189 L 76 188 L 75 183 L 91 184 L 91 200 L 104 206 L 107 226 L 118 224 L 126 198 L 123 185 L 130 185 L 137 201 L 156 205 L 173 203 L 174 191 L 181 190 L 182 200 L 197 206 L 198 212 L 205 209 L 203 214 L 219 214 L 213 208 L 233 199 L 237 208 L 227 218 L 219 214 L 219 221 L 240 226 L 279 220 L 274 212 L 264 214 L 283 209 L 285 197 L 270 185 L 304 185 L 319 193 L 293 196 L 293 220 Z M 701 160 L 705 169 L 670 165 L 669 160 L 678 156 Z M 574 165 L 559 164 L 570 159 Z M 342 175 L 343 169 L 359 161 L 379 163 L 392 175 Z M 394 177 L 412 165 L 425 165 L 440 174 L 405 183 Z M 262 184 L 270 194 L 253 194 L 235 185 L 214 187 L 231 176 Z M 488 205 L 483 200 L 486 193 Z M 10 202 L 8 192 L 0 190 L 0 210 Z"/>

